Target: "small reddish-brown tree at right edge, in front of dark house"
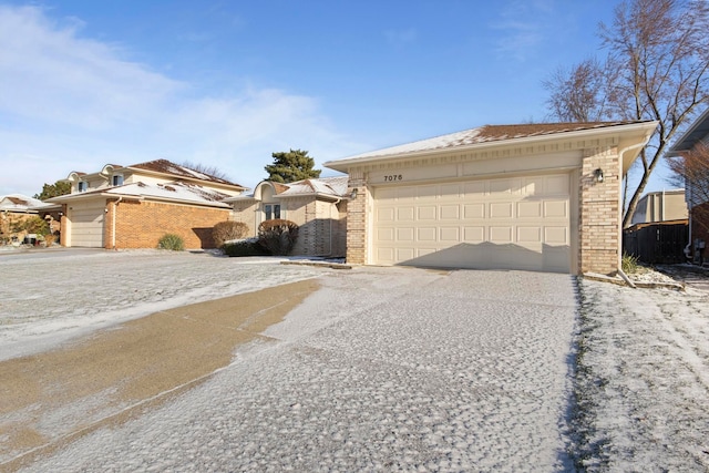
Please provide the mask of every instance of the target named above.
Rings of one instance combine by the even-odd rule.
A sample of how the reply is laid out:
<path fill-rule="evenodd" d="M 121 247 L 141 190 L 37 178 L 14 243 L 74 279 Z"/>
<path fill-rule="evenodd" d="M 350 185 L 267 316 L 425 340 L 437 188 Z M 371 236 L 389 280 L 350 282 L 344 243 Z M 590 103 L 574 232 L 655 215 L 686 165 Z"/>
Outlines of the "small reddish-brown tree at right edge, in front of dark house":
<path fill-rule="evenodd" d="M 698 143 L 692 151 L 668 158 L 667 164 L 672 173 L 670 183 L 687 187 L 692 224 L 709 232 L 709 145 Z"/>

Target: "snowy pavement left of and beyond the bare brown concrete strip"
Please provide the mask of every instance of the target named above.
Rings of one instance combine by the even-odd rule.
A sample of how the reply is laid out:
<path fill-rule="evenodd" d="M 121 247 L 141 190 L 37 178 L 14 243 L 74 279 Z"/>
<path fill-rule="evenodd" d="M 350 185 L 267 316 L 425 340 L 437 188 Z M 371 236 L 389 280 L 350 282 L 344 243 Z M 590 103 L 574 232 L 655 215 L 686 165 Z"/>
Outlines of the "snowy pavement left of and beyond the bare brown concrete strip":
<path fill-rule="evenodd" d="M 319 276 L 280 258 L 82 249 L 0 255 L 0 360 L 160 310 Z"/>

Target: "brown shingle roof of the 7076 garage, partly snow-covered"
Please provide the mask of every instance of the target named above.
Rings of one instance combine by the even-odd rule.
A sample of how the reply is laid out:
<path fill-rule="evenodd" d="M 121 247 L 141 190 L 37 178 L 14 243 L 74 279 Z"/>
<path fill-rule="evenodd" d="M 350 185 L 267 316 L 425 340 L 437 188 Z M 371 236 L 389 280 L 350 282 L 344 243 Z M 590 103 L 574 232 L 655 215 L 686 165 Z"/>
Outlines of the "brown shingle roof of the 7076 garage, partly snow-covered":
<path fill-rule="evenodd" d="M 577 132 L 582 130 L 602 128 L 640 122 L 587 122 L 587 123 L 531 123 L 521 125 L 484 125 L 462 132 L 450 133 L 413 143 L 376 150 L 346 160 L 392 156 L 424 151 L 445 150 L 458 146 L 474 145 L 503 140 L 524 138 L 555 133 Z"/>

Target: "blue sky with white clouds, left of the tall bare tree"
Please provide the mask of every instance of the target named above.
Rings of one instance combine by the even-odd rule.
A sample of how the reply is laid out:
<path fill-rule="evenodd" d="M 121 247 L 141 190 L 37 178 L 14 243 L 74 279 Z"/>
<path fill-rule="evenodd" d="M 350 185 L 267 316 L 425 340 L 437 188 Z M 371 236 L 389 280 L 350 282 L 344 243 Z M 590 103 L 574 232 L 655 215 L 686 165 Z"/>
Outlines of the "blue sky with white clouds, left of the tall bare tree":
<path fill-rule="evenodd" d="M 617 3 L 0 0 L 0 195 L 156 158 L 254 187 L 278 151 L 544 121 Z"/>

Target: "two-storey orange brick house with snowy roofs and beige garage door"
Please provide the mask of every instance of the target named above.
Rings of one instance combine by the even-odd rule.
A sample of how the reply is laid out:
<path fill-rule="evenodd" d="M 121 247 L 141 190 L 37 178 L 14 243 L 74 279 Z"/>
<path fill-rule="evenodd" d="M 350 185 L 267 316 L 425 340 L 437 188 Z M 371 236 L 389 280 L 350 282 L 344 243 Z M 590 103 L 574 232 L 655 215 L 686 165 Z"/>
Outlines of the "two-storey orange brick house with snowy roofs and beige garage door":
<path fill-rule="evenodd" d="M 238 184 L 166 160 L 93 174 L 73 172 L 71 194 L 48 199 L 62 205 L 61 244 L 93 248 L 155 248 L 176 234 L 186 248 L 213 248 L 212 228 L 230 219 L 224 202 L 246 191 Z"/>

